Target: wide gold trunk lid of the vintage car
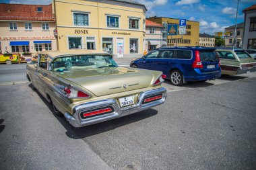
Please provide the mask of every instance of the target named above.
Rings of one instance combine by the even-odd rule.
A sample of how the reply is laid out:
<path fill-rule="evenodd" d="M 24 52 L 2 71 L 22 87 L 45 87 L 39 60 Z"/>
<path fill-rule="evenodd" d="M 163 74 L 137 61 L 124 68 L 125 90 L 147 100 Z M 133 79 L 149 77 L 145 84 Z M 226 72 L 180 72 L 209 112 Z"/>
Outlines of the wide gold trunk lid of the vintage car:
<path fill-rule="evenodd" d="M 77 69 L 57 74 L 88 89 L 96 96 L 146 88 L 152 81 L 151 73 L 122 67 L 90 70 Z"/>

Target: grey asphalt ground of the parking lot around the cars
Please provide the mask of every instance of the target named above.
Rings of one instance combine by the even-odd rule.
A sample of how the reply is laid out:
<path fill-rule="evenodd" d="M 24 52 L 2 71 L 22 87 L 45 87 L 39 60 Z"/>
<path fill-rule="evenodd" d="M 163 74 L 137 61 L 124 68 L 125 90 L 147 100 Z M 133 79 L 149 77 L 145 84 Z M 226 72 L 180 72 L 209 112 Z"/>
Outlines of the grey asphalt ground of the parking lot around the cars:
<path fill-rule="evenodd" d="M 164 105 L 73 128 L 10 70 L 0 73 L 0 169 L 256 169 L 256 73 L 166 81 Z"/>

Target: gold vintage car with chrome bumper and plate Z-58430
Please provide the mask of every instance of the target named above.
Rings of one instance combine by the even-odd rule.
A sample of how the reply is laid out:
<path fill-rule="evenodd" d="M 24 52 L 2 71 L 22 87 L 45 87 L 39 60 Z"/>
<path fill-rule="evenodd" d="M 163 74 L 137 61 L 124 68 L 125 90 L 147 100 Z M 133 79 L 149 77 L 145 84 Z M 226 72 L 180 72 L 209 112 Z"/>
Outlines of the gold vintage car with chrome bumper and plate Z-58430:
<path fill-rule="evenodd" d="M 32 87 L 80 127 L 119 118 L 164 103 L 162 72 L 118 67 L 107 52 L 41 52 L 27 65 Z"/>

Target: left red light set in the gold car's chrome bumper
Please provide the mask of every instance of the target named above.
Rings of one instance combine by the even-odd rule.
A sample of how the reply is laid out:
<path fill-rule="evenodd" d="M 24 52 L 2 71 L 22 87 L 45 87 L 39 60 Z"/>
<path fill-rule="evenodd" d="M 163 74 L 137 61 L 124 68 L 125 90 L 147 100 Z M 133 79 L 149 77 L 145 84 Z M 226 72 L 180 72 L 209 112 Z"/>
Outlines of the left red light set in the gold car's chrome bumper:
<path fill-rule="evenodd" d="M 90 118 L 93 116 L 99 116 L 100 114 L 109 114 L 114 112 L 115 110 L 111 106 L 106 106 L 104 108 L 97 108 L 94 110 L 88 110 L 86 112 L 81 113 L 81 118 Z"/>

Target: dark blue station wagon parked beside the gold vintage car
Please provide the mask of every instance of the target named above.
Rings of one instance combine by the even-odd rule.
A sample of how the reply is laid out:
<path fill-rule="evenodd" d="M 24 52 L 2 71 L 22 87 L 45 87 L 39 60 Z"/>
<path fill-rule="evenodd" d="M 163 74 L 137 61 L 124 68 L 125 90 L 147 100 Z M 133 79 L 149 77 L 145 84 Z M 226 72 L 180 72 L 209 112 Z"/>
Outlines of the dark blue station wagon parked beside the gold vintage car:
<path fill-rule="evenodd" d="M 162 71 L 172 85 L 187 81 L 214 80 L 221 75 L 216 48 L 164 47 L 133 60 L 130 67 Z"/>

